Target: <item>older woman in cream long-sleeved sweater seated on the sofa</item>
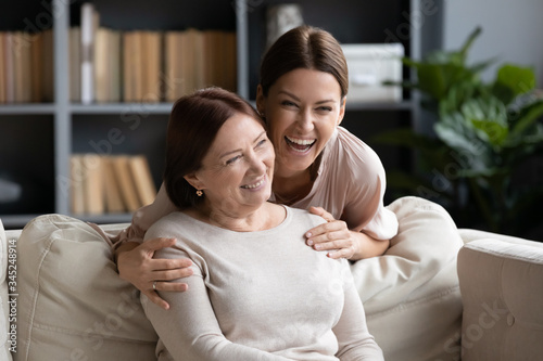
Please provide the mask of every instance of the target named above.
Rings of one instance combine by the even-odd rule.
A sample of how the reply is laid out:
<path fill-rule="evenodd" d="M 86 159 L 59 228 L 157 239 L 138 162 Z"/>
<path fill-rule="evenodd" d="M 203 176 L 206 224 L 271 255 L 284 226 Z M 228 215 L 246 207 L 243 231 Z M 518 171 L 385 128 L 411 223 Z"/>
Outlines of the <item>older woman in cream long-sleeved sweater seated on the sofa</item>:
<path fill-rule="evenodd" d="M 175 237 L 156 256 L 189 258 L 194 275 L 190 292 L 161 293 L 171 310 L 143 302 L 161 360 L 382 360 L 346 260 L 305 245 L 324 220 L 267 202 L 274 163 L 237 95 L 206 89 L 174 105 L 164 184 L 181 211 L 146 240 Z"/>

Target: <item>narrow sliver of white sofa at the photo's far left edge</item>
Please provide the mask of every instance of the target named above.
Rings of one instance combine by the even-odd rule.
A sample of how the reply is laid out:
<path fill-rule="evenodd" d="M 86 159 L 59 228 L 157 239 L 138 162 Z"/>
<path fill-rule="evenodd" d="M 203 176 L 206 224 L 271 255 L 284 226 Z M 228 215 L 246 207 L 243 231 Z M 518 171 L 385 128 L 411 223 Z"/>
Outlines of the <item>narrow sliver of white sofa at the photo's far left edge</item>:
<path fill-rule="evenodd" d="M 16 248 L 15 248 L 16 249 Z M 10 304 L 8 296 L 8 240 L 0 220 L 0 360 L 11 361 L 10 344 Z M 14 265 L 16 267 L 16 265 Z M 15 268 L 16 271 L 16 268 Z M 16 312 L 15 312 L 16 313 Z M 16 340 L 16 339 L 15 339 Z M 15 345 L 14 345 L 15 346 Z"/>

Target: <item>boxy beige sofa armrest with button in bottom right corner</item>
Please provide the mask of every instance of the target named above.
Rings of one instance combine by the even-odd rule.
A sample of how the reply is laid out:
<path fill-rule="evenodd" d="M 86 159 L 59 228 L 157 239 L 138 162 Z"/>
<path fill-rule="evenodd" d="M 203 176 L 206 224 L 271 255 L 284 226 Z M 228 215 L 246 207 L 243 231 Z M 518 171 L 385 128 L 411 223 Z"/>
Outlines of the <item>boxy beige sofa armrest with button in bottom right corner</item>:
<path fill-rule="evenodd" d="M 543 244 L 513 241 L 476 240 L 458 253 L 463 361 L 543 354 Z"/>

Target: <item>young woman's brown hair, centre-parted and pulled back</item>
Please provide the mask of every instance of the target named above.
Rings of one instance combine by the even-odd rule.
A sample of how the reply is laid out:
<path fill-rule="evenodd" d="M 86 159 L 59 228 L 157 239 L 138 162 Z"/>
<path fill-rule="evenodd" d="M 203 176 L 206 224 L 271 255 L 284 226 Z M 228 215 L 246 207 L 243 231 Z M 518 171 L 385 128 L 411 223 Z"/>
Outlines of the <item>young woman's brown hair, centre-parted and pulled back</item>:
<path fill-rule="evenodd" d="M 303 25 L 283 34 L 266 52 L 261 65 L 260 85 L 265 96 L 282 75 L 298 69 L 331 74 L 339 82 L 341 98 L 349 90 L 349 72 L 341 46 L 320 28 Z"/>

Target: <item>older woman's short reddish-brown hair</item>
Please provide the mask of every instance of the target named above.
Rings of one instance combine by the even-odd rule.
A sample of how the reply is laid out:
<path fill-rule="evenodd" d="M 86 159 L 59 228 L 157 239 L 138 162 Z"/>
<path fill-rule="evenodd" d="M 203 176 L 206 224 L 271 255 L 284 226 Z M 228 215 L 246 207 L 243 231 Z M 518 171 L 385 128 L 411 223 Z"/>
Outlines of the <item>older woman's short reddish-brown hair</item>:
<path fill-rule="evenodd" d="M 164 184 L 177 207 L 194 206 L 202 199 L 184 177 L 201 168 L 218 130 L 237 113 L 261 121 L 264 127 L 247 101 L 220 88 L 202 89 L 175 102 L 167 127 Z"/>

